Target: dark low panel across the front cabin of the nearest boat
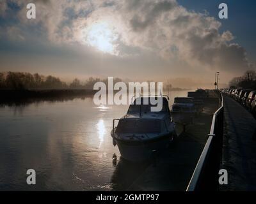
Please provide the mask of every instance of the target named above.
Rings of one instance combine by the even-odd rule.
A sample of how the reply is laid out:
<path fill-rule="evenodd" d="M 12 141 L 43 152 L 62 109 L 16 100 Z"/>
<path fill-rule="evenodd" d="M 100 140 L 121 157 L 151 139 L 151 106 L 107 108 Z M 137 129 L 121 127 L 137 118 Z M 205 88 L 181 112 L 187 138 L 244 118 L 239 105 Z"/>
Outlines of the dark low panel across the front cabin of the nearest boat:
<path fill-rule="evenodd" d="M 160 133 L 161 120 L 120 120 L 116 133 Z"/>

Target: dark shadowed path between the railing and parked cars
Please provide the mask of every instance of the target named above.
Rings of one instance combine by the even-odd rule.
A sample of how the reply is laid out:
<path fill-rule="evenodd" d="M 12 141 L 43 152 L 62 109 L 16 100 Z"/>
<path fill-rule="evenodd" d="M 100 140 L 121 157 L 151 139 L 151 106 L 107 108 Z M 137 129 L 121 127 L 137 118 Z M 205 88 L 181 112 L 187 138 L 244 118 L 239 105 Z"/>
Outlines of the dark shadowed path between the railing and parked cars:
<path fill-rule="evenodd" d="M 222 168 L 228 185 L 221 191 L 256 191 L 256 120 L 243 106 L 223 96 L 225 129 Z"/>

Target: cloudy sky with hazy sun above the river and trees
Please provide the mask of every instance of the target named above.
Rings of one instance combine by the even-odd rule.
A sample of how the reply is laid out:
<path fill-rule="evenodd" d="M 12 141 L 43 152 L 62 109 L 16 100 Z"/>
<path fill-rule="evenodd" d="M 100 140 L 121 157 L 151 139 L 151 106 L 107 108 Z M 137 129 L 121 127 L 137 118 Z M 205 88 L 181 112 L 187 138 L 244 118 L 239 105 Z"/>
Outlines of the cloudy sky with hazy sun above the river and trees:
<path fill-rule="evenodd" d="M 28 3 L 36 19 L 28 19 Z M 218 17 L 227 3 L 228 19 Z M 255 69 L 255 1 L 0 0 L 0 71 L 211 87 Z"/>

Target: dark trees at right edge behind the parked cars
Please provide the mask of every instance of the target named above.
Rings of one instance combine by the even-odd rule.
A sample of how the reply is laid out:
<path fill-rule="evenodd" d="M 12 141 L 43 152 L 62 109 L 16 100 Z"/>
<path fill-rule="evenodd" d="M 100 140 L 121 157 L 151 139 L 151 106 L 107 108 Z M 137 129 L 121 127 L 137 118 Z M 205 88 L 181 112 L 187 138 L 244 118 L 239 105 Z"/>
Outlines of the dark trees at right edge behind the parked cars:
<path fill-rule="evenodd" d="M 256 71 L 246 71 L 241 77 L 234 77 L 229 82 L 231 89 L 243 88 L 243 89 L 254 89 L 256 90 Z"/>

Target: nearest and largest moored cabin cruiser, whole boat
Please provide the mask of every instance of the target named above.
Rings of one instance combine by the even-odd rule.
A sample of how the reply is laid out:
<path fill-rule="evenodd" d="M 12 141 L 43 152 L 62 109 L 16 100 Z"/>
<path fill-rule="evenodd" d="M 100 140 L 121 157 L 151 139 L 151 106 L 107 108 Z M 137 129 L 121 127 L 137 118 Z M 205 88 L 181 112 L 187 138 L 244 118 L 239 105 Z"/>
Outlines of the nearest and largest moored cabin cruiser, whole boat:
<path fill-rule="evenodd" d="M 151 96 L 152 97 L 152 96 Z M 145 102 L 145 99 L 149 104 Z M 160 112 L 152 112 L 150 97 L 139 97 L 129 106 L 127 114 L 119 119 L 115 128 L 113 120 L 113 145 L 118 145 L 121 156 L 129 161 L 145 161 L 150 159 L 154 152 L 168 147 L 175 137 L 175 124 L 171 122 L 168 97 L 157 96 L 163 99 L 163 108 Z M 141 100 L 141 105 L 136 101 Z M 162 102 L 162 100 L 160 100 Z"/>

